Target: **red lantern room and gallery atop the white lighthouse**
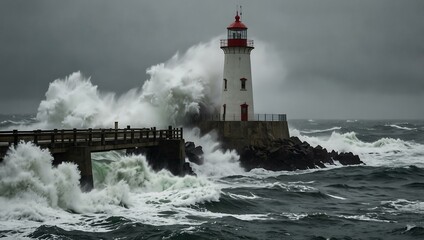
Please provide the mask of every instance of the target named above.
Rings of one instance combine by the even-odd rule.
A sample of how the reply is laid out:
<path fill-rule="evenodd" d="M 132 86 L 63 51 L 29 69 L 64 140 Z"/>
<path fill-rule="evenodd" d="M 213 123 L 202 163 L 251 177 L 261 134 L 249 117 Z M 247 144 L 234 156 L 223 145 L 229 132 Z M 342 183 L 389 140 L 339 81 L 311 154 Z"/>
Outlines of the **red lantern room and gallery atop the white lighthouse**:
<path fill-rule="evenodd" d="M 247 27 L 240 21 L 238 12 L 235 21 L 227 27 L 227 39 L 221 40 L 221 48 L 226 47 L 248 47 L 253 48 L 253 40 L 247 39 Z"/>

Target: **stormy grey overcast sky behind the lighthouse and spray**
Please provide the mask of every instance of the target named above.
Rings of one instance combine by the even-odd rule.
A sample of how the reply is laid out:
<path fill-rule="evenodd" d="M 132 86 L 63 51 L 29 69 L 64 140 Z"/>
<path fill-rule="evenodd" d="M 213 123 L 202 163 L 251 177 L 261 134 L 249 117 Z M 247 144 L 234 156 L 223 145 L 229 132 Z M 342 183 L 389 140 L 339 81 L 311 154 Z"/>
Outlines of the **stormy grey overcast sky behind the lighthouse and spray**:
<path fill-rule="evenodd" d="M 267 84 L 257 112 L 424 118 L 422 0 L 2 0 L 0 113 L 35 113 L 49 82 L 79 70 L 103 91 L 139 87 L 148 67 L 224 34 L 236 4 L 284 69 L 253 79 Z"/>

